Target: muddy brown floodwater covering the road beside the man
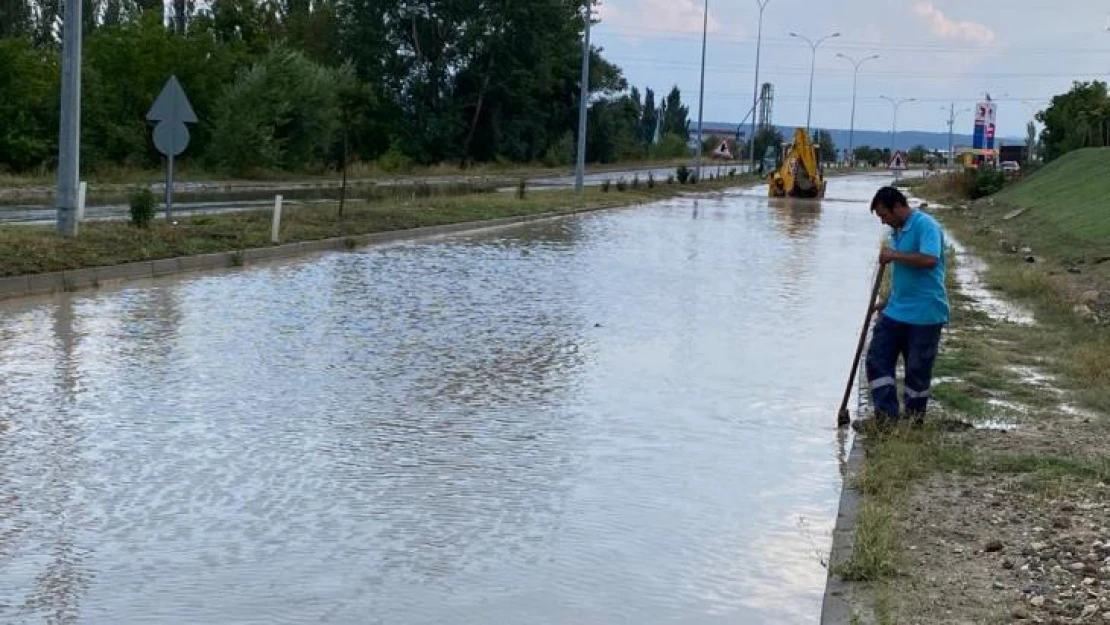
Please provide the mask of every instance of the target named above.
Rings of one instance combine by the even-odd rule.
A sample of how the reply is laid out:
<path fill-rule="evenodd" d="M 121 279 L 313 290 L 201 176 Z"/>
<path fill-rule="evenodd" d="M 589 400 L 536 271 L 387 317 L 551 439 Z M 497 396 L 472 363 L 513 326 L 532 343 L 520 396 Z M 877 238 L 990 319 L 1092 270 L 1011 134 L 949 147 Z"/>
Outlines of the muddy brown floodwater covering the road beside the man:
<path fill-rule="evenodd" d="M 814 623 L 882 177 L 0 308 L 0 622 Z"/>

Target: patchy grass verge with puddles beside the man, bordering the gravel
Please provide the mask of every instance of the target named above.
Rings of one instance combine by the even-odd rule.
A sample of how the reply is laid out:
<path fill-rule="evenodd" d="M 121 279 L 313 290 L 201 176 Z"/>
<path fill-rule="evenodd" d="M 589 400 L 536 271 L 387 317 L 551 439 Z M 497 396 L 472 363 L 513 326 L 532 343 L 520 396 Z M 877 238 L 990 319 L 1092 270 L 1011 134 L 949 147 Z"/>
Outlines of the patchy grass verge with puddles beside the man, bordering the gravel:
<path fill-rule="evenodd" d="M 879 623 L 920 622 L 922 616 L 914 612 L 936 593 L 930 582 L 938 572 L 921 569 L 926 561 L 920 548 L 926 547 L 910 551 L 906 543 L 907 528 L 924 521 L 914 510 L 915 493 L 930 492 L 922 488 L 934 477 L 957 476 L 959 483 L 982 478 L 1036 493 L 1091 492 L 1110 481 L 1110 456 L 1098 444 L 1104 436 L 1102 415 L 1110 413 L 1110 339 L 1104 327 L 1072 311 L 1066 296 L 1074 290 L 1068 283 L 1073 274 L 1048 261 L 1028 263 L 996 252 L 997 232 L 985 231 L 982 218 L 972 211 L 936 214 L 970 252 L 988 261 L 987 285 L 1031 309 L 1037 322 L 1006 323 L 980 310 L 957 283 L 960 260 L 950 251 L 952 319 L 934 371 L 930 423 L 862 441 L 854 551 L 833 572 L 859 583 Z M 1064 404 L 1092 416 L 1069 414 Z M 1020 432 L 945 426 L 955 422 L 1012 423 Z M 961 514 L 958 508 L 944 512 L 955 520 Z"/>

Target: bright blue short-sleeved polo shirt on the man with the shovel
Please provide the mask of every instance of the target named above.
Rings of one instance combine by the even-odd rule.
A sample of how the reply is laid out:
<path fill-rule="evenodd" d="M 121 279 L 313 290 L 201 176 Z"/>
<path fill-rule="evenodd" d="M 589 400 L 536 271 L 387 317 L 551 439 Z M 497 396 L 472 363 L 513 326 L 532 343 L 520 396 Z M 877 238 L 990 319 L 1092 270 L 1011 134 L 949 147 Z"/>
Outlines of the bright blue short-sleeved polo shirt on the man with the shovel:
<path fill-rule="evenodd" d="M 940 224 L 932 215 L 914 210 L 900 231 L 890 233 L 890 245 L 899 252 L 937 256 L 937 266 L 917 269 L 890 263 L 890 298 L 882 314 L 914 325 L 948 323 L 945 232 Z"/>

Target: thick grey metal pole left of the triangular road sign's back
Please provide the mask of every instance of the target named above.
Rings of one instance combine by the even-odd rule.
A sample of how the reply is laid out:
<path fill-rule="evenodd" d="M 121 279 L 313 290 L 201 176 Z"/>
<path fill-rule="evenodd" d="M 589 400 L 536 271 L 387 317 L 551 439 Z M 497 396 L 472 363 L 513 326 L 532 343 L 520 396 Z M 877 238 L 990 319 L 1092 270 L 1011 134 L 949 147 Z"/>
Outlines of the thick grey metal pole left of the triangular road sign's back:
<path fill-rule="evenodd" d="M 77 236 L 78 180 L 81 172 L 81 0 L 67 0 L 62 29 L 57 230 L 62 236 Z"/>

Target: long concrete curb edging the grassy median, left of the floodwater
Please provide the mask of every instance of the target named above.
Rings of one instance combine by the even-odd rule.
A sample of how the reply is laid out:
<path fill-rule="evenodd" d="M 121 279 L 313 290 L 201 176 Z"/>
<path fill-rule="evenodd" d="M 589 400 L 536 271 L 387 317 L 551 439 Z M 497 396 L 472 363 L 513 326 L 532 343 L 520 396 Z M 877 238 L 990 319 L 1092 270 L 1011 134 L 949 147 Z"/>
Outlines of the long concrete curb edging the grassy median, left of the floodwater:
<path fill-rule="evenodd" d="M 407 230 L 352 234 L 350 236 L 335 236 L 331 239 L 319 239 L 315 241 L 299 241 L 295 243 L 285 243 L 269 248 L 251 248 L 242 250 L 241 252 L 219 252 L 214 254 L 176 256 L 172 259 L 83 268 L 51 273 L 14 275 L 10 278 L 0 278 L 0 300 L 12 300 L 32 295 L 49 295 L 52 293 L 78 291 L 89 288 L 95 289 L 101 284 L 125 282 L 129 280 L 161 278 L 194 271 L 245 266 L 254 263 L 290 259 L 313 252 L 344 251 L 366 245 L 394 243 L 400 241 L 416 241 L 464 232 L 478 232 L 528 222 L 563 219 L 582 213 L 623 209 L 632 205 L 635 204 L 574 209 L 569 211 L 517 215 L 483 221 L 428 225 Z"/>

